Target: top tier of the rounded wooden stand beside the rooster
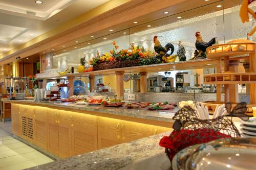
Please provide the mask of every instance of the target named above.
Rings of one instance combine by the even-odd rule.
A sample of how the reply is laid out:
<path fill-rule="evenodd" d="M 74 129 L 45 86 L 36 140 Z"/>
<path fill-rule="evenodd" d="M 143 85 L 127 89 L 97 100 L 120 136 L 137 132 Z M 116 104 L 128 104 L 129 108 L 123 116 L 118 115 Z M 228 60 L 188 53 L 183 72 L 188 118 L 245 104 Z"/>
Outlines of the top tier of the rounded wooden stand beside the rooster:
<path fill-rule="evenodd" d="M 242 56 L 255 52 L 255 43 L 233 42 L 210 46 L 206 49 L 207 58 L 216 60 L 225 57 Z"/>

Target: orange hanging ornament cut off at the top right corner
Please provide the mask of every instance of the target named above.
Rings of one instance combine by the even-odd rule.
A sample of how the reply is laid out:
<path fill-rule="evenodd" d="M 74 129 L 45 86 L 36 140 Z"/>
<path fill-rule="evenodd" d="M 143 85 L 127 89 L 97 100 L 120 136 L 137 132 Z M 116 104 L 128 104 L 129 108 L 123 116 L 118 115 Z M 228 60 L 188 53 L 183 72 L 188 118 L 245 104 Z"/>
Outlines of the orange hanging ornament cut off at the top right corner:
<path fill-rule="evenodd" d="M 249 14 L 251 14 L 251 16 L 256 19 L 256 13 L 254 13 L 252 11 L 252 9 L 248 8 L 248 5 L 250 5 L 253 1 L 255 0 L 244 0 L 241 8 L 240 8 L 240 18 L 242 20 L 242 22 L 249 22 Z M 252 34 L 256 31 L 256 27 L 253 28 L 253 30 L 248 33 L 249 36 L 252 36 Z"/>

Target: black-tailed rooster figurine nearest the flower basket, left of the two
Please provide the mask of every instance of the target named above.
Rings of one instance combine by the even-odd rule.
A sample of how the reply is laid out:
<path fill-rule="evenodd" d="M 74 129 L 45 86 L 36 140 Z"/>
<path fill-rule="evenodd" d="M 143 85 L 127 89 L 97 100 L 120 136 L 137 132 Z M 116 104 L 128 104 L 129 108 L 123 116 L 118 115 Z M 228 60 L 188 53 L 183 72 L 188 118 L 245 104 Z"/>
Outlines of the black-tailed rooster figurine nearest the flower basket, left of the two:
<path fill-rule="evenodd" d="M 163 47 L 160 43 L 160 41 L 157 39 L 157 36 L 154 36 L 154 49 L 158 56 L 170 56 L 174 53 L 174 45 L 171 43 L 167 43 L 165 47 Z M 168 51 L 171 51 L 170 54 L 167 54 Z"/>

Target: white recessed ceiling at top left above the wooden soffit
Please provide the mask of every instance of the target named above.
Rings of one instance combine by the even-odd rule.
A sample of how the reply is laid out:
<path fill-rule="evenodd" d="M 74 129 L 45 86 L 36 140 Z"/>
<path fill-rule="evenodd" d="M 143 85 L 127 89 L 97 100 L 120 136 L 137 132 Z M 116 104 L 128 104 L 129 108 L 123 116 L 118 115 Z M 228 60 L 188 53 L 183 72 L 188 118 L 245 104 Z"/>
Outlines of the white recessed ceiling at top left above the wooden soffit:
<path fill-rule="evenodd" d="M 0 56 L 110 0 L 0 0 Z"/>

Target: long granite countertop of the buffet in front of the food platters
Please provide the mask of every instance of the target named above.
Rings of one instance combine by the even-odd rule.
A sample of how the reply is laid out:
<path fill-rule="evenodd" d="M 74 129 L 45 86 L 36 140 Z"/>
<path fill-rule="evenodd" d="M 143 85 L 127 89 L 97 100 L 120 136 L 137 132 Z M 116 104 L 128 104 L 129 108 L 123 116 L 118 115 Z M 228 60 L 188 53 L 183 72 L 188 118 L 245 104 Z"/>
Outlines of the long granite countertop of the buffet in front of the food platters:
<path fill-rule="evenodd" d="M 175 112 L 178 111 L 178 107 L 175 107 L 174 110 L 167 111 L 151 111 L 147 109 L 128 109 L 126 107 L 103 107 L 103 106 L 87 106 L 87 105 L 75 105 L 72 103 L 57 103 L 57 102 L 34 102 L 33 100 L 6 100 L 2 99 L 6 103 L 15 103 L 15 104 L 33 104 L 40 106 L 54 106 L 60 108 L 68 109 L 77 109 L 83 111 L 93 111 L 106 114 L 122 115 L 135 118 L 143 118 L 150 120 L 158 120 L 161 122 L 170 122 L 174 123 L 172 117 Z"/>

